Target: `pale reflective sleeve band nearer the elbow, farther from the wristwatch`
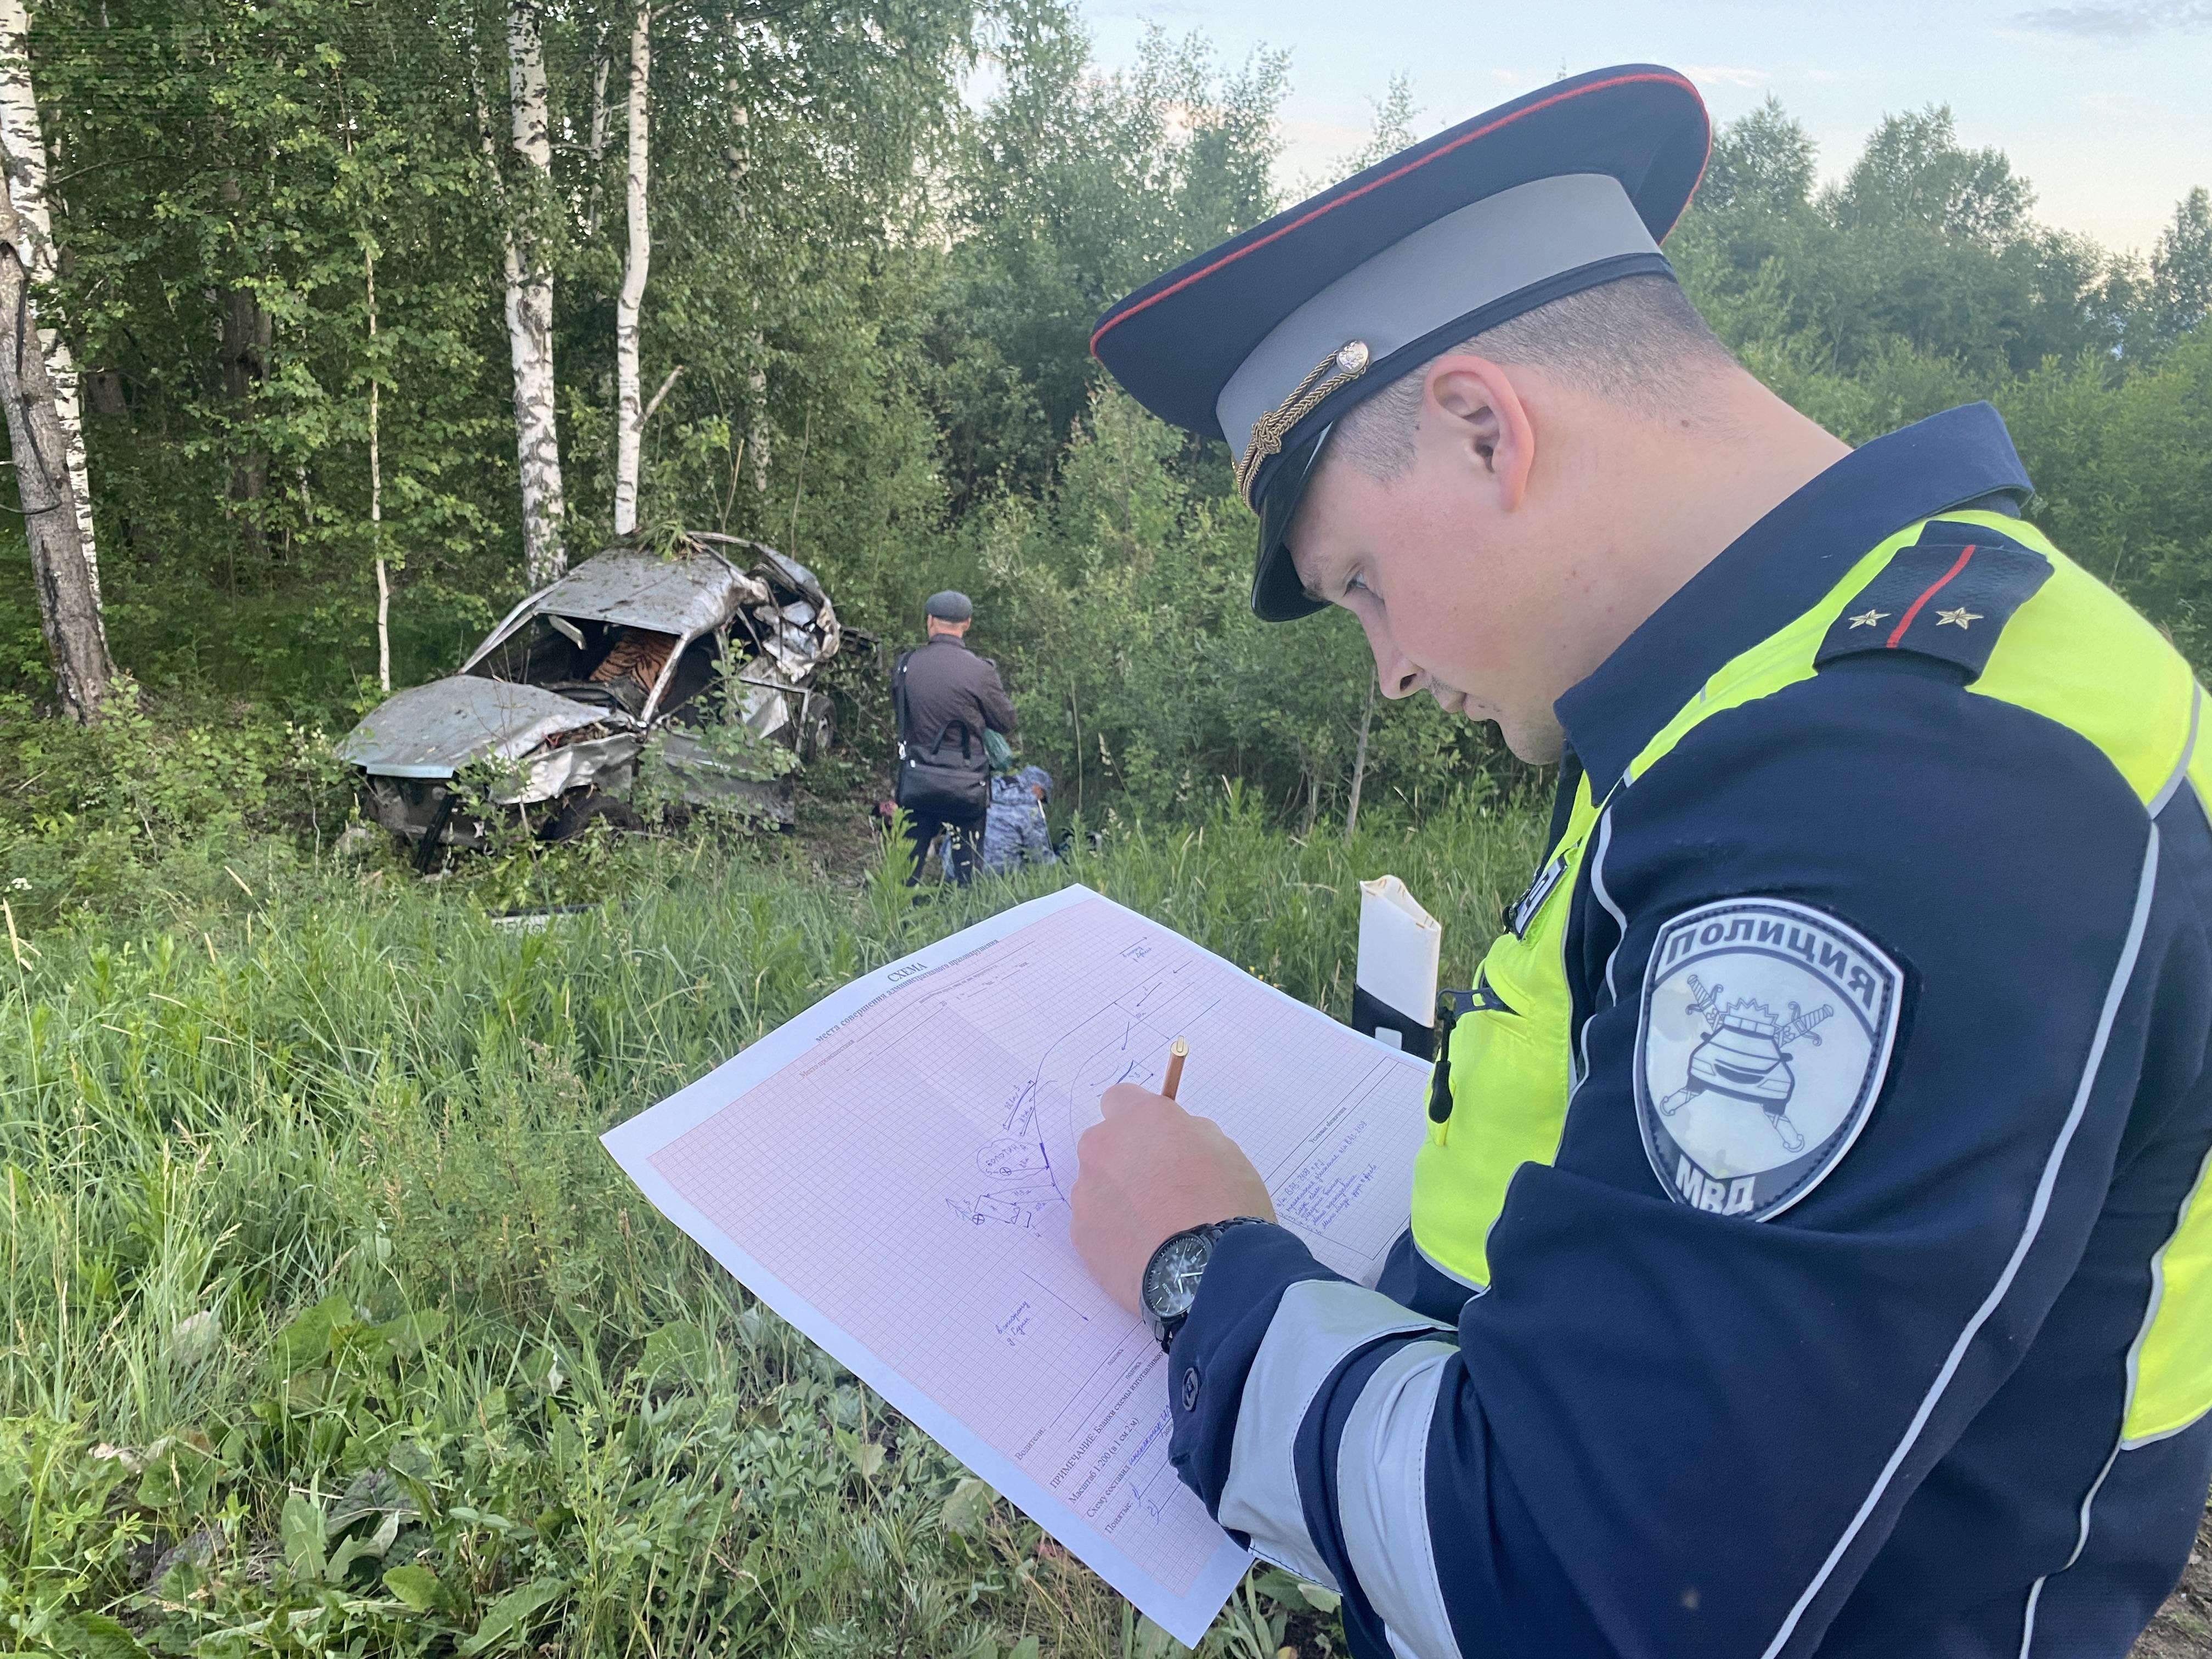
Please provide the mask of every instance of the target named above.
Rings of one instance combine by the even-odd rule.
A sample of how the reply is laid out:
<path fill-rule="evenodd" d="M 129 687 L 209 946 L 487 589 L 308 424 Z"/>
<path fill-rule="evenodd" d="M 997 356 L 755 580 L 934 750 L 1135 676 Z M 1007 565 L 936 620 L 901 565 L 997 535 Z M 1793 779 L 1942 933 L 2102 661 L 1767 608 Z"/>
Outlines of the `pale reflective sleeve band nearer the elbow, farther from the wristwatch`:
<path fill-rule="evenodd" d="M 1345 1557 L 1391 1646 L 1458 1659 L 1429 1542 L 1429 1422 L 1451 1343 L 1407 1343 L 1360 1389 L 1336 1449 Z"/>

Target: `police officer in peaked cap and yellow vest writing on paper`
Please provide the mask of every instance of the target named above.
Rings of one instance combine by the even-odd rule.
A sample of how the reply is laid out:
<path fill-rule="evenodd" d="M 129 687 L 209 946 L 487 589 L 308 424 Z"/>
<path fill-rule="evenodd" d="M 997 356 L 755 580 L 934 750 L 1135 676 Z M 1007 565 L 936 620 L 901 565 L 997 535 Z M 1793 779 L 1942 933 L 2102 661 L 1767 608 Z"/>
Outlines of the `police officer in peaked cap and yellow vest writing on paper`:
<path fill-rule="evenodd" d="M 1557 82 L 1115 305 L 1252 604 L 1559 761 L 1374 1287 L 1119 1086 L 1073 1237 L 1172 1460 L 1354 1652 L 2124 1655 L 2212 1473 L 2212 745 L 1986 405 L 1847 449 L 1657 239 L 1666 69 Z"/>

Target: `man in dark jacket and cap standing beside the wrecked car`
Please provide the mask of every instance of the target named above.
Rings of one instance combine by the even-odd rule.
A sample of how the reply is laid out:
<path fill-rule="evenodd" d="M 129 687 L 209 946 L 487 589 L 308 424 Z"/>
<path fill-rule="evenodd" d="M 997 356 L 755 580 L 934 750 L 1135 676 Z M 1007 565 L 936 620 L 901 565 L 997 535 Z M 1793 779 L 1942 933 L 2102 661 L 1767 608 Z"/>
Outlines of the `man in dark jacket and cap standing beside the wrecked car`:
<path fill-rule="evenodd" d="M 907 885 L 920 880 L 929 843 L 940 830 L 951 834 L 953 880 L 969 885 L 991 807 L 991 757 L 982 734 L 1013 737 L 1013 699 L 998 666 L 967 648 L 973 617 L 975 606 L 964 593 L 933 593 L 925 606 L 927 644 L 891 670 L 898 805 L 907 810 L 907 834 L 914 838 Z"/>

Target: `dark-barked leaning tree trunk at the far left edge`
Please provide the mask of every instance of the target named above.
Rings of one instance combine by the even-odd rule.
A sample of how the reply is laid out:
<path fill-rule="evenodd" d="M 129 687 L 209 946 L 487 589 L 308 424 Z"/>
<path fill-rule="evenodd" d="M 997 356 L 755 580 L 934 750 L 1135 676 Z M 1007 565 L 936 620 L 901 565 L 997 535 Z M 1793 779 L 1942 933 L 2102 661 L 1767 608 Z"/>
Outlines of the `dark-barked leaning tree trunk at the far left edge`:
<path fill-rule="evenodd" d="M 77 502 L 69 493 L 69 445 L 31 314 L 27 241 L 7 181 L 0 179 L 0 403 L 7 405 L 22 529 L 38 582 L 38 624 L 53 659 L 62 714 L 88 721 L 100 712 L 115 668 L 100 628 L 93 566 L 77 535 Z"/>

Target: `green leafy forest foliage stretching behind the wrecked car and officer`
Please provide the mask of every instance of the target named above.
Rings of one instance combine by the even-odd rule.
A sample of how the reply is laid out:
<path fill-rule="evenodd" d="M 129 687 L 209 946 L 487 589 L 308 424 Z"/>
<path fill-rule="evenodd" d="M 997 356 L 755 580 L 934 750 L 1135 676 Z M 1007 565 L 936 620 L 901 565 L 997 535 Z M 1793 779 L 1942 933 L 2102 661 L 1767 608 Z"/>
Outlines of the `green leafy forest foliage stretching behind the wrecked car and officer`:
<path fill-rule="evenodd" d="M 542 190 L 498 142 L 502 18 L 478 0 L 38 11 L 108 624 L 164 708 L 338 730 L 365 706 L 372 380 L 400 681 L 449 670 L 515 595 L 509 223 L 557 279 L 571 551 L 604 533 L 626 18 L 549 18 Z M 655 64 L 644 376 L 684 374 L 644 434 L 648 524 L 785 546 L 887 641 L 929 591 L 975 593 L 1062 818 L 1157 821 L 1232 776 L 1318 825 L 1347 805 L 1363 721 L 1365 801 L 1433 799 L 1469 768 L 1515 787 L 1436 710 L 1369 717 L 1343 619 L 1250 622 L 1221 445 L 1150 422 L 1088 358 L 1110 299 L 1276 206 L 1279 58 L 1223 66 L 1155 33 L 1104 75 L 1060 0 L 699 0 L 666 13 Z M 1394 84 L 1343 166 L 1413 131 Z M 2148 261 L 2112 257 L 2039 226 L 1947 108 L 1885 119 L 1834 188 L 1818 173 L 1772 100 L 1721 131 L 1668 252 L 1723 338 L 1851 440 L 1997 400 L 2033 511 L 2203 661 L 2205 197 Z M 9 573 L 0 677 L 29 690 L 44 650 L 20 544 Z M 880 759 L 863 653 L 836 697 Z"/>

